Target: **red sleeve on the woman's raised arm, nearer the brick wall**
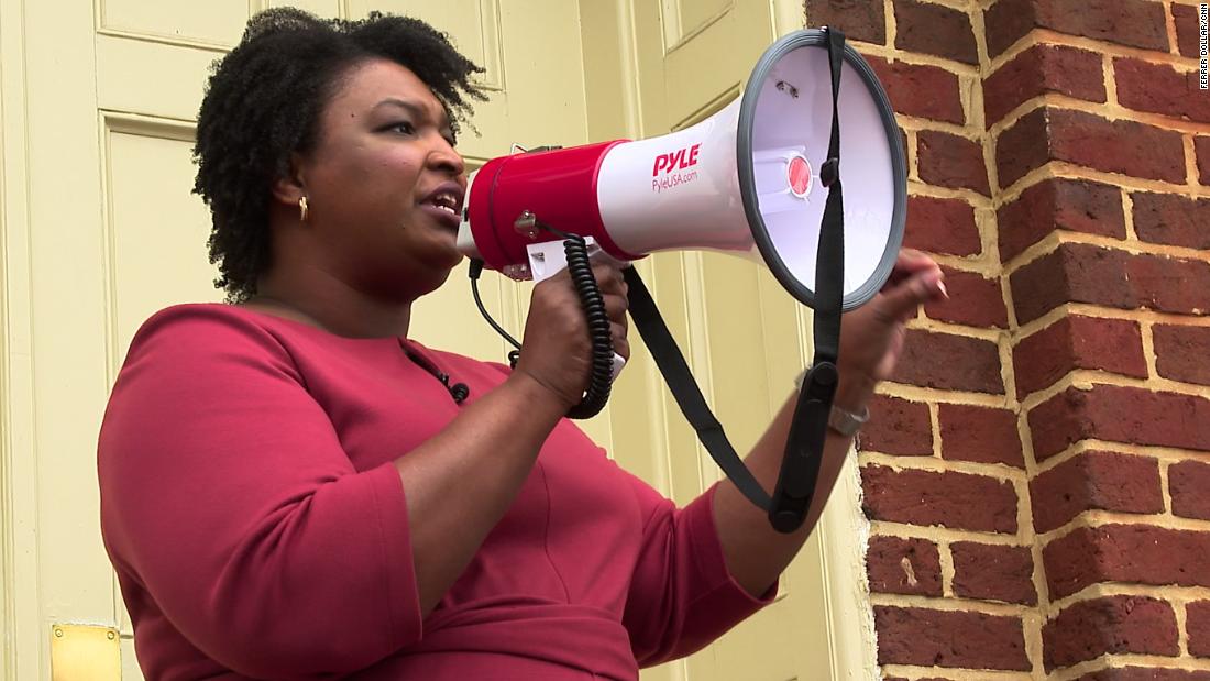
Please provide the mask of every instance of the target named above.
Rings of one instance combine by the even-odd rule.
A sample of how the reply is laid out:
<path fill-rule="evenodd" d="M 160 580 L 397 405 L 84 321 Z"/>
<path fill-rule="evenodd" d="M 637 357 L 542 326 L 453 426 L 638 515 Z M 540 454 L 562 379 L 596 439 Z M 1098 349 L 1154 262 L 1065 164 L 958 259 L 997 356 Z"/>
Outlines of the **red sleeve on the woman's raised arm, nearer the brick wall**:
<path fill-rule="evenodd" d="M 727 571 L 714 525 L 714 489 L 685 508 L 630 477 L 644 509 L 643 541 L 623 624 L 640 666 L 691 654 L 772 602 L 753 598 Z"/>

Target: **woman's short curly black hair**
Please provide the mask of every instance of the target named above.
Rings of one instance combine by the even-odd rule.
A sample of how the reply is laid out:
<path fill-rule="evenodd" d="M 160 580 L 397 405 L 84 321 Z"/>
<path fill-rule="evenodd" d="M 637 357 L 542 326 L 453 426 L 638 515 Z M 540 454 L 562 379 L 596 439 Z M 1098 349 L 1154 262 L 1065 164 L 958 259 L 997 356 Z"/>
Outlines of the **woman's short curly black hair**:
<path fill-rule="evenodd" d="M 211 69 L 197 114 L 194 194 L 211 208 L 211 262 L 227 301 L 257 293 L 270 266 L 272 184 L 289 173 L 290 155 L 310 151 L 319 116 L 341 80 L 368 59 L 407 67 L 445 108 L 453 132 L 468 99 L 485 100 L 471 77 L 483 69 L 449 36 L 411 17 L 379 12 L 357 21 L 321 19 L 293 7 L 254 16 L 243 39 Z"/>

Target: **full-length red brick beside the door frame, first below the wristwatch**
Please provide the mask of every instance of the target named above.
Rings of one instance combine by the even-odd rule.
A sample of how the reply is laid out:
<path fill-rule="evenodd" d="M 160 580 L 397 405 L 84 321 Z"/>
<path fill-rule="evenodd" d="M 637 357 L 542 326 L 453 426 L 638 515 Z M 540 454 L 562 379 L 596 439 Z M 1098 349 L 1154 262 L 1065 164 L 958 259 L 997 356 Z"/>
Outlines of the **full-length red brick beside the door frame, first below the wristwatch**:
<path fill-rule="evenodd" d="M 864 510 L 874 520 L 1016 532 L 1016 490 L 1007 481 L 967 473 L 866 466 L 862 483 Z"/>

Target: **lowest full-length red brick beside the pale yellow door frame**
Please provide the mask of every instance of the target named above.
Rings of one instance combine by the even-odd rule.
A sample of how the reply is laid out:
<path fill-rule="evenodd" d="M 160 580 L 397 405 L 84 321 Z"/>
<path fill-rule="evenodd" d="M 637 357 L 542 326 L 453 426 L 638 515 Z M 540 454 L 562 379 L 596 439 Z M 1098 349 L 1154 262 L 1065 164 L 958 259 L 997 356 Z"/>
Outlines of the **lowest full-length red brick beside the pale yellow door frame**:
<path fill-rule="evenodd" d="M 1016 617 L 875 606 L 878 664 L 1031 669 Z"/>

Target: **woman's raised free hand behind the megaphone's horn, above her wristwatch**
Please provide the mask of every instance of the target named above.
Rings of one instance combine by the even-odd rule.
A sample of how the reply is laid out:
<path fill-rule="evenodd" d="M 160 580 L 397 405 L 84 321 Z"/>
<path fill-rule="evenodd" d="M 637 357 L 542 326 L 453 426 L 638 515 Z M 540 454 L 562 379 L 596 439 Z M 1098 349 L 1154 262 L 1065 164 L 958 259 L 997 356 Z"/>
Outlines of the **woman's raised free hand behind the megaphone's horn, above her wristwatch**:
<path fill-rule="evenodd" d="M 904 323 L 916 316 L 921 305 L 949 298 L 944 279 L 932 258 L 918 250 L 900 250 L 882 290 L 845 314 L 836 404 L 859 410 L 875 386 L 891 377 L 904 348 Z"/>

